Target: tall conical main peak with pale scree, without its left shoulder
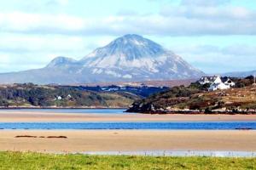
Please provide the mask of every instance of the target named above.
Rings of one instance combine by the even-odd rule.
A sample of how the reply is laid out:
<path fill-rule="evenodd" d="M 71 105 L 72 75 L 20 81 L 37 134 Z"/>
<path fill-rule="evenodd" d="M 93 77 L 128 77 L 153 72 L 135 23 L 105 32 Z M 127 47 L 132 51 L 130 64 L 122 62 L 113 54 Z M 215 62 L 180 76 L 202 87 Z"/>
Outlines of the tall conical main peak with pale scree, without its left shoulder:
<path fill-rule="evenodd" d="M 196 70 L 160 44 L 136 34 L 127 34 L 97 48 L 81 60 L 92 75 L 111 79 L 172 79 L 198 77 Z M 102 77 L 102 78 L 103 78 Z"/>

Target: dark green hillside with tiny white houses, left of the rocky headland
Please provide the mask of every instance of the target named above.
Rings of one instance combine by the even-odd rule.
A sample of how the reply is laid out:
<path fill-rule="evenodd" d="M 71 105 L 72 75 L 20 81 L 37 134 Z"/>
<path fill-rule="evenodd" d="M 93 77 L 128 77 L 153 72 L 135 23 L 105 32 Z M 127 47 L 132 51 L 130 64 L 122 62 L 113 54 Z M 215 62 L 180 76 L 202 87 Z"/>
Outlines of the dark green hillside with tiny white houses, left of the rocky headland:
<path fill-rule="evenodd" d="M 126 92 L 15 84 L 0 87 L 0 107 L 128 107 L 140 99 Z"/>

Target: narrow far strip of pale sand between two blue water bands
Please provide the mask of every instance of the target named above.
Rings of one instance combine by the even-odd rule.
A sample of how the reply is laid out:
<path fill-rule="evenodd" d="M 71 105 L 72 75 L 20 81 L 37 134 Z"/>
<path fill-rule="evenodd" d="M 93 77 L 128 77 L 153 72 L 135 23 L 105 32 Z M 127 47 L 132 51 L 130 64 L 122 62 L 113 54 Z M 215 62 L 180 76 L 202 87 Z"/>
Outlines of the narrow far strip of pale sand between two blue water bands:
<path fill-rule="evenodd" d="M 29 111 L 0 111 L 0 122 L 247 122 L 256 115 L 147 115 L 77 114 Z"/>

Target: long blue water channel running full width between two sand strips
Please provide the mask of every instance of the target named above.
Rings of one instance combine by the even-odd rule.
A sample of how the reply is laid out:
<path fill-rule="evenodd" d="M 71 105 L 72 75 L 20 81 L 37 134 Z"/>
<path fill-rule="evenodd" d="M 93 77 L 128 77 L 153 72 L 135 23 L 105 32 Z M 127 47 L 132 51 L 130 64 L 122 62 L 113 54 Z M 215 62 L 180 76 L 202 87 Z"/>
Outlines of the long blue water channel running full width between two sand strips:
<path fill-rule="evenodd" d="M 1 129 L 256 129 L 256 122 L 3 122 Z"/>

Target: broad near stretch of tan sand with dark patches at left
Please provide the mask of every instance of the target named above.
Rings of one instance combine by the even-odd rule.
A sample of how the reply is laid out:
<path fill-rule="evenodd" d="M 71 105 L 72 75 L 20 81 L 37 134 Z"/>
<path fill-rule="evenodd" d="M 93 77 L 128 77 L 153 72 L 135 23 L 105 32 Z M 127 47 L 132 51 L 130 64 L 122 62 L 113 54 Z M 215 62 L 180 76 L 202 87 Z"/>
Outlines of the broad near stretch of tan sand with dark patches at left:
<path fill-rule="evenodd" d="M 67 139 L 15 138 L 17 135 Z M 232 150 L 256 151 L 256 131 L 1 130 L 0 150 L 40 152 Z"/>

